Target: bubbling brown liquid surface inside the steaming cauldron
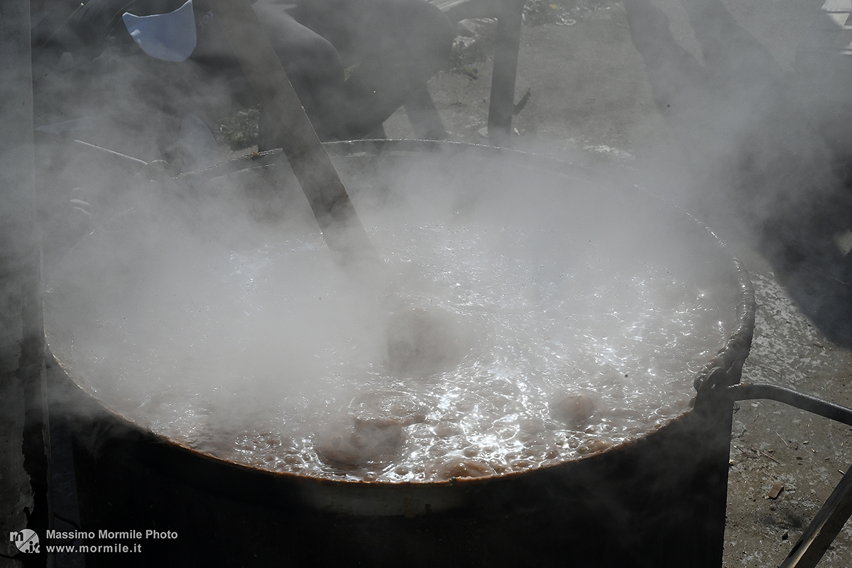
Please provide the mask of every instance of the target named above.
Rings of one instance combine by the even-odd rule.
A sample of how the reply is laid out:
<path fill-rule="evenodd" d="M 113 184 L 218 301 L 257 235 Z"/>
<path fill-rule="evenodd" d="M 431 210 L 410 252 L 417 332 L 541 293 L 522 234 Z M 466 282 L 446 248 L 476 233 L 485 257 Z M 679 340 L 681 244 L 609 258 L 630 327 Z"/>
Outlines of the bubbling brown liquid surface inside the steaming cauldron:
<path fill-rule="evenodd" d="M 390 294 L 317 241 L 188 244 L 180 257 L 203 261 L 168 262 L 90 314 L 70 359 L 114 410 L 211 455 L 434 481 L 652 431 L 688 410 L 729 332 L 711 291 L 582 239 L 470 223 L 371 232 Z M 527 250 L 541 238 L 559 255 Z"/>

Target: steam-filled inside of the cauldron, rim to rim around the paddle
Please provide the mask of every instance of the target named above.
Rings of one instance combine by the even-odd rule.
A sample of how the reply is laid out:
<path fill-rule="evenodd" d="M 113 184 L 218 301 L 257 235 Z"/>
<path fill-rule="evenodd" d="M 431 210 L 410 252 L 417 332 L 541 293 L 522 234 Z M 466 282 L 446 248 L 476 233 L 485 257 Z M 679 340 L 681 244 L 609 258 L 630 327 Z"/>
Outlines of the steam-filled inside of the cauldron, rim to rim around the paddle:
<path fill-rule="evenodd" d="M 338 162 L 390 280 L 337 265 L 291 175 L 258 169 L 81 243 L 49 290 L 51 348 L 154 432 L 337 479 L 522 471 L 688 409 L 737 318 L 710 233 L 474 153 L 391 164 Z M 283 219 L 251 215 L 257 175 Z"/>

